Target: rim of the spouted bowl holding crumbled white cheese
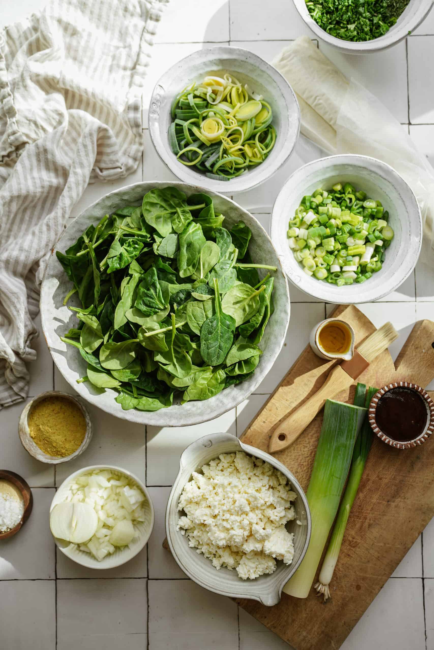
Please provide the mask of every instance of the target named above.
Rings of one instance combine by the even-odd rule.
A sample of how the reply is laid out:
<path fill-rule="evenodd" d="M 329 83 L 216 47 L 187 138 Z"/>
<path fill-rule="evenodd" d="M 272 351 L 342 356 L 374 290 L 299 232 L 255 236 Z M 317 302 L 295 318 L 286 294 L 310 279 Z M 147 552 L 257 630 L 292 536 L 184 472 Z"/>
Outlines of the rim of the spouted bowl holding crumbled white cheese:
<path fill-rule="evenodd" d="M 226 591 L 226 590 L 219 590 L 217 588 L 214 588 L 213 586 L 210 586 L 208 582 L 205 580 L 200 579 L 193 571 L 193 569 L 190 568 L 190 565 L 194 565 L 194 562 L 189 563 L 190 565 L 183 564 L 182 560 L 178 556 L 176 549 L 174 547 L 173 541 L 172 541 L 172 535 L 180 535 L 180 532 L 176 530 L 176 525 L 174 521 L 172 521 L 171 513 L 170 510 L 172 508 L 172 502 L 174 500 L 174 495 L 176 492 L 176 489 L 178 489 L 178 485 L 180 484 L 182 480 L 182 474 L 185 468 L 187 467 L 187 463 L 185 463 L 185 456 L 189 454 L 189 450 L 194 447 L 211 447 L 213 441 L 215 442 L 227 442 L 234 444 L 236 443 L 239 446 L 240 451 L 244 451 L 246 454 L 249 456 L 255 456 L 256 458 L 261 458 L 262 460 L 266 461 L 270 465 L 273 465 L 276 469 L 278 469 L 282 474 L 288 478 L 292 486 L 295 486 L 297 489 L 297 498 L 301 500 L 303 503 L 303 507 L 305 508 L 306 512 L 306 540 L 303 545 L 303 549 L 301 551 L 301 554 L 299 558 L 297 559 L 297 562 L 294 562 L 294 564 L 286 565 L 289 571 L 285 572 L 285 575 L 282 577 L 280 580 L 280 583 L 277 585 L 277 588 L 273 590 L 273 593 L 271 595 L 271 601 L 265 602 L 264 599 L 258 594 L 252 593 L 247 595 L 246 593 L 237 593 L 236 591 Z M 232 451 L 228 452 L 222 452 L 220 451 L 219 453 L 233 453 Z M 219 454 L 215 456 L 217 458 Z M 209 461 L 208 461 L 209 462 Z M 191 470 L 191 472 L 196 471 L 197 467 Z M 185 484 L 190 480 L 190 478 L 187 478 L 184 482 Z M 183 486 L 183 487 L 184 487 Z M 176 511 L 178 512 L 178 510 Z M 282 594 L 282 589 L 284 588 L 286 582 L 292 577 L 292 575 L 297 571 L 299 565 L 303 561 L 303 558 L 305 557 L 306 551 L 308 549 L 308 545 L 310 542 L 310 536 L 312 532 L 312 517 L 310 515 L 310 508 L 308 504 L 308 500 L 305 494 L 305 491 L 299 484 L 297 478 L 293 475 L 293 473 L 284 465 L 283 463 L 280 463 L 280 461 L 277 460 L 274 456 L 271 456 L 271 454 L 268 454 L 267 452 L 263 451 L 262 449 L 252 447 L 251 445 L 246 445 L 245 443 L 241 442 L 239 438 L 236 437 L 236 435 L 228 434 L 228 433 L 215 433 L 215 434 L 210 434 L 210 435 L 204 435 L 201 438 L 198 438 L 197 440 L 193 441 L 188 447 L 186 447 L 180 457 L 180 469 L 178 471 L 178 475 L 176 476 L 176 479 L 173 482 L 172 489 L 170 490 L 169 494 L 169 499 L 167 500 L 167 506 L 166 506 L 166 512 L 165 512 L 165 529 L 166 529 L 166 536 L 167 536 L 167 543 L 169 544 L 170 552 L 172 553 L 172 556 L 174 557 L 174 560 L 176 561 L 176 564 L 182 569 L 182 571 L 189 577 L 191 580 L 194 580 L 199 584 L 201 587 L 208 589 L 208 591 L 213 591 L 213 593 L 218 593 L 219 595 L 224 595 L 228 596 L 230 598 L 249 598 L 253 599 L 256 601 L 260 601 L 262 604 L 266 605 L 274 605 L 277 604 L 278 601 L 280 601 L 280 596 Z M 192 553 L 189 554 L 189 557 L 193 558 L 193 551 L 195 549 L 191 549 Z M 210 562 L 210 568 L 213 568 Z M 216 569 L 214 569 L 216 570 Z M 273 573 L 269 574 L 269 576 L 273 576 Z M 265 577 L 267 579 L 267 576 Z M 239 584 L 247 584 L 249 586 L 252 586 L 254 588 L 254 585 L 257 584 L 255 583 L 255 580 L 247 580 L 241 582 Z"/>

